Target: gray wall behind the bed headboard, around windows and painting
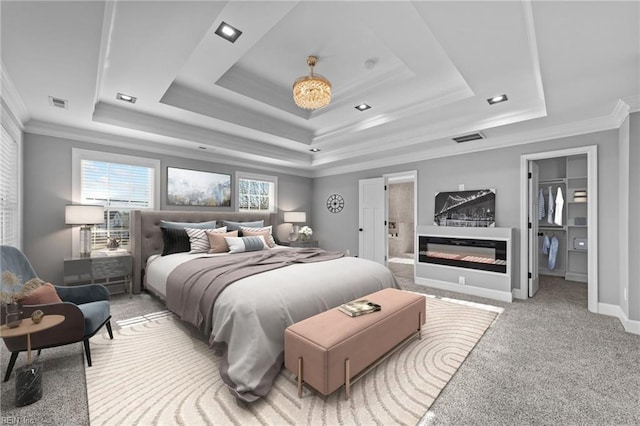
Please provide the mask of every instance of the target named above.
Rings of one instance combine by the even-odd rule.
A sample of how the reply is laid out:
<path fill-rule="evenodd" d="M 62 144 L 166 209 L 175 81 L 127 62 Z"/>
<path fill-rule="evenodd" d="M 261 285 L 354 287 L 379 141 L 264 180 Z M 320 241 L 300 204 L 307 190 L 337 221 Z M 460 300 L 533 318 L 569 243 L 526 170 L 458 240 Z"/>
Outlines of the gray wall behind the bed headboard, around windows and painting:
<path fill-rule="evenodd" d="M 71 256 L 71 228 L 64 223 L 64 206 L 71 202 L 71 150 L 72 148 L 113 152 L 117 154 L 158 159 L 161 162 L 161 209 L 175 210 L 166 204 L 167 167 L 181 167 L 229 173 L 234 179 L 236 171 L 278 176 L 279 220 L 288 210 L 306 211 L 309 222 L 311 211 L 311 187 L 309 178 L 265 172 L 244 167 L 216 164 L 207 161 L 152 154 L 147 152 L 113 148 L 69 139 L 24 134 L 24 216 L 23 250 L 31 260 L 38 275 L 52 283 L 63 281 L 63 260 Z M 211 211 L 233 211 L 231 208 L 208 208 Z M 183 210 L 203 211 L 203 207 L 183 207 Z"/>

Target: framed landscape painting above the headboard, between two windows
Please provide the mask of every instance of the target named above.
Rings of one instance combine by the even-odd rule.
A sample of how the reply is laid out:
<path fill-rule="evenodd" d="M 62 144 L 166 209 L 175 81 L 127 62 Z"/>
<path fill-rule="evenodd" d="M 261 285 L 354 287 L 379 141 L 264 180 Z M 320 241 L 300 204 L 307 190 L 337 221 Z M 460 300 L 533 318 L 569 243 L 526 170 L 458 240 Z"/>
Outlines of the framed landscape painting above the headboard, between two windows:
<path fill-rule="evenodd" d="M 167 204 L 231 207 L 231 175 L 167 167 Z"/>

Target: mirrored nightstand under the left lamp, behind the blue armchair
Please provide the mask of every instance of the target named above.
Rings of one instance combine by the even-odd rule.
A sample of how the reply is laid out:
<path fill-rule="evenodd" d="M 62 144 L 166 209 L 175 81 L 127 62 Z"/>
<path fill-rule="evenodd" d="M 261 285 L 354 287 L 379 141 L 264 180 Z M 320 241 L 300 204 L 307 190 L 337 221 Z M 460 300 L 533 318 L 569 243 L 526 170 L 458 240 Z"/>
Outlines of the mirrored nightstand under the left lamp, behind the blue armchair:
<path fill-rule="evenodd" d="M 64 260 L 64 285 L 102 284 L 109 293 L 132 296 L 132 257 L 117 256 L 72 257 Z M 122 291 L 119 291 L 120 288 Z"/>

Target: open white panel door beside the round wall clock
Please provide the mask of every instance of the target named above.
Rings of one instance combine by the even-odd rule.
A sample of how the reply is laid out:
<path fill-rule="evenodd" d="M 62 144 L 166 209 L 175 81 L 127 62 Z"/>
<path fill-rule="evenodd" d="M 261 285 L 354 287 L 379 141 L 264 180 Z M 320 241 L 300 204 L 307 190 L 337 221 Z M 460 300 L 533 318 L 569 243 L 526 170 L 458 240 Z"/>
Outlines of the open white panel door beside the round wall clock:
<path fill-rule="evenodd" d="M 386 226 L 384 178 L 361 179 L 359 182 L 358 255 L 386 264 Z"/>

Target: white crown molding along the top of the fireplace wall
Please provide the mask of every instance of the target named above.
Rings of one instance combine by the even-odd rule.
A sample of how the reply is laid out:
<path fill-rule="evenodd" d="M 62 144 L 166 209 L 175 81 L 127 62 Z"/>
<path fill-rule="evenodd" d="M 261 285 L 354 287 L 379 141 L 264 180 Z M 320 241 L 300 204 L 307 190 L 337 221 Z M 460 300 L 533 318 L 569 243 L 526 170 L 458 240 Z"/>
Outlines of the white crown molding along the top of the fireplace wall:
<path fill-rule="evenodd" d="M 479 141 L 467 142 L 465 144 L 447 145 L 438 148 L 424 149 L 422 151 L 414 151 L 411 153 L 396 156 L 385 156 L 384 158 L 362 161 L 345 166 L 329 166 L 326 168 L 316 168 L 313 173 L 313 177 L 318 178 L 325 176 L 335 176 L 363 170 L 396 166 L 399 164 L 408 164 L 415 163 L 417 161 L 451 157 L 454 155 L 491 151 L 494 149 L 503 149 L 511 146 L 526 145 L 534 142 L 542 142 L 546 140 L 617 129 L 622 124 L 622 121 L 624 121 L 624 118 L 626 118 L 625 115 L 624 118 L 622 118 L 622 121 L 620 120 L 620 111 L 625 111 L 625 105 L 626 103 L 619 101 L 616 104 L 614 110 L 609 115 L 526 132 L 514 133 L 499 138 L 489 138 Z"/>

